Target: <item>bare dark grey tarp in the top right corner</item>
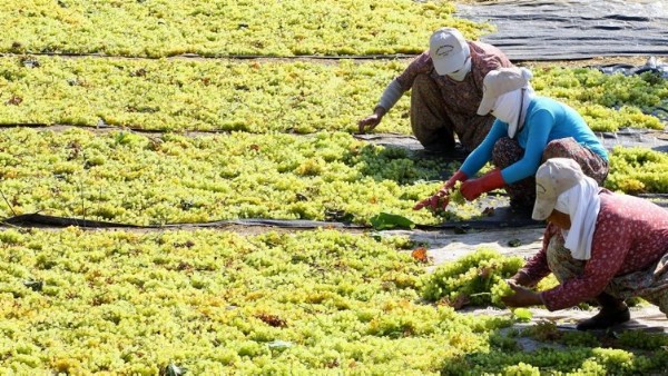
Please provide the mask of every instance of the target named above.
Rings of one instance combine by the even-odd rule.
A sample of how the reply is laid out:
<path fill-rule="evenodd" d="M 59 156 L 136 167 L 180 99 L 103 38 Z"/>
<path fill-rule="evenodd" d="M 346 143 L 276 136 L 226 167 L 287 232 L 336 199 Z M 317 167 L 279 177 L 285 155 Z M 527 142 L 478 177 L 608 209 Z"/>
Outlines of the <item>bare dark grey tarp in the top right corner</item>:
<path fill-rule="evenodd" d="M 458 4 L 458 17 L 489 22 L 481 38 L 511 60 L 668 56 L 666 0 L 501 0 Z"/>

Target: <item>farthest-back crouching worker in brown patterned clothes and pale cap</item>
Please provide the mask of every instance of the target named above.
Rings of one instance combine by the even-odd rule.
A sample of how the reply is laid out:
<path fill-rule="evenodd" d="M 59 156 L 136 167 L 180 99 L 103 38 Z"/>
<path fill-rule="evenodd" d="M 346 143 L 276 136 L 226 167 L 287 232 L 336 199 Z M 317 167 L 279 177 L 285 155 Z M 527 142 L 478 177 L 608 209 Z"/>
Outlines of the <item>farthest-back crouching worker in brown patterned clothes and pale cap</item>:
<path fill-rule="evenodd" d="M 475 113 L 488 72 L 512 67 L 498 48 L 466 41 L 453 28 L 433 32 L 430 49 L 415 58 L 381 96 L 374 113 L 360 120 L 360 132 L 374 129 L 404 92 L 411 93 L 411 127 L 426 150 L 453 151 L 454 135 L 468 151 L 490 130 L 494 118 Z"/>

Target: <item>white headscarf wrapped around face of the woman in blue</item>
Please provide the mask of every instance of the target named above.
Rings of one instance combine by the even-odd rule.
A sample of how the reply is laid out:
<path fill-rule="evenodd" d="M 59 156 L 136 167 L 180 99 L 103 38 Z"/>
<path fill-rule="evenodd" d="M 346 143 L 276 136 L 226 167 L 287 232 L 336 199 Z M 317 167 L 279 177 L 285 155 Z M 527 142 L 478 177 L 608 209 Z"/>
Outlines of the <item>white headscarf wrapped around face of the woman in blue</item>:
<path fill-rule="evenodd" d="M 510 138 L 514 138 L 517 132 L 522 129 L 529 105 L 536 97 L 533 88 L 531 88 L 531 83 L 529 83 L 529 80 L 532 77 L 531 71 L 525 68 L 522 68 L 521 71 L 522 76 L 527 79 L 527 85 L 523 88 L 499 96 L 492 108 L 492 115 L 497 119 L 508 123 L 508 137 Z M 522 98 L 522 90 L 524 91 L 524 98 Z"/>

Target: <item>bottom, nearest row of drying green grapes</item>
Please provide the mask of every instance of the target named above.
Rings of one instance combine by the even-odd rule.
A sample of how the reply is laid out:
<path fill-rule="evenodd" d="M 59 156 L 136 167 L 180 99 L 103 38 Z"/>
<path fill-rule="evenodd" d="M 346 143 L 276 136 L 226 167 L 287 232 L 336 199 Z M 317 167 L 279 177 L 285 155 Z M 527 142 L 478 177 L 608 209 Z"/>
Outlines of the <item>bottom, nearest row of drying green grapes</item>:
<path fill-rule="evenodd" d="M 651 357 L 586 336 L 525 353 L 523 336 L 552 346 L 549 327 L 502 334 L 511 318 L 421 303 L 429 276 L 405 237 L 68 228 L 0 240 L 2 374 L 648 374 L 668 360 L 661 338 L 638 336 L 625 344 Z"/>

